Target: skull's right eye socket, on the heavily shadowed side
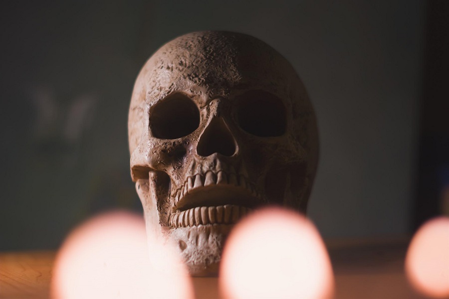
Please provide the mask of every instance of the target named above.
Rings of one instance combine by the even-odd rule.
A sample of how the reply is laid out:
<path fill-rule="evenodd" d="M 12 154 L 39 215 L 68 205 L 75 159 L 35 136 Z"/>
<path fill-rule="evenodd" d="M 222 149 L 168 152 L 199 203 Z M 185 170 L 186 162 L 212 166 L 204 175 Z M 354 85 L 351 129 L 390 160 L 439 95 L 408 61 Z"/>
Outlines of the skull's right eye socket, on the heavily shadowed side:
<path fill-rule="evenodd" d="M 244 93 L 236 101 L 238 125 L 247 133 L 259 137 L 276 137 L 285 133 L 285 106 L 276 96 L 256 90 Z"/>

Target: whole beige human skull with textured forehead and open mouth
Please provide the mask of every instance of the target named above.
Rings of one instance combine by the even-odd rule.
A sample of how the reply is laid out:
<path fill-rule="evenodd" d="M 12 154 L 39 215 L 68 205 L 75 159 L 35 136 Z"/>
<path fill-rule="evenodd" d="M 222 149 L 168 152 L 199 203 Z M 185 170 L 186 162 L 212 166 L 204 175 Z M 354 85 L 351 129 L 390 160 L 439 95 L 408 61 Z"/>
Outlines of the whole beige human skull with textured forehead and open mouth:
<path fill-rule="evenodd" d="M 289 62 L 254 37 L 195 32 L 162 46 L 137 77 L 128 130 L 147 231 L 177 244 L 192 275 L 217 274 L 252 209 L 306 210 L 313 108 Z"/>

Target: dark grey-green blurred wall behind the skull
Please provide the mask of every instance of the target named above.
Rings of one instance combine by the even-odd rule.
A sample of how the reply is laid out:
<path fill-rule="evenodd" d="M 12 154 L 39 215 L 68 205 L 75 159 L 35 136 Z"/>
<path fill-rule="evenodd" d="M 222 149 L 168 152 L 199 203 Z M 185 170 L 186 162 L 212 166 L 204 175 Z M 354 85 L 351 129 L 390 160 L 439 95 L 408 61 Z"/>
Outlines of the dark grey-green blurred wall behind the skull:
<path fill-rule="evenodd" d="M 191 31 L 253 35 L 315 106 L 309 216 L 324 238 L 407 236 L 449 210 L 449 1 L 10 1 L 1 8 L 0 250 L 55 249 L 141 210 L 128 105 L 145 61 Z"/>

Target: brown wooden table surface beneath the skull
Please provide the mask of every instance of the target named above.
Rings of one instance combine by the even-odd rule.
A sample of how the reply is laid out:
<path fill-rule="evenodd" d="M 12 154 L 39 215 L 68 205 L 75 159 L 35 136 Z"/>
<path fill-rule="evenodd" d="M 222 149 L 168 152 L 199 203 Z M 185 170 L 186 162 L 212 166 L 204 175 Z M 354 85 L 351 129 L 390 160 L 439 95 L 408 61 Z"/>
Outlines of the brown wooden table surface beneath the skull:
<path fill-rule="evenodd" d="M 404 258 L 409 239 L 326 242 L 336 298 L 424 298 L 409 286 Z M 54 251 L 1 252 L 0 298 L 48 298 Z M 193 279 L 197 298 L 218 298 L 217 278 Z"/>

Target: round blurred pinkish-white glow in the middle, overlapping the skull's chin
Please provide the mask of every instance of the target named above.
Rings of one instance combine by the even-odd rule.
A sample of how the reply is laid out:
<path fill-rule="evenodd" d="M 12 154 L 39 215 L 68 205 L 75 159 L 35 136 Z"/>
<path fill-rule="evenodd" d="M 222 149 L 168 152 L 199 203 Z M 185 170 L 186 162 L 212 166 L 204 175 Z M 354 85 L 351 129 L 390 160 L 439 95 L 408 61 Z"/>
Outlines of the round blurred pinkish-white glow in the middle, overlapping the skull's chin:
<path fill-rule="evenodd" d="M 305 217 L 266 208 L 231 232 L 220 270 L 225 298 L 329 298 L 333 289 L 324 243 Z"/>

